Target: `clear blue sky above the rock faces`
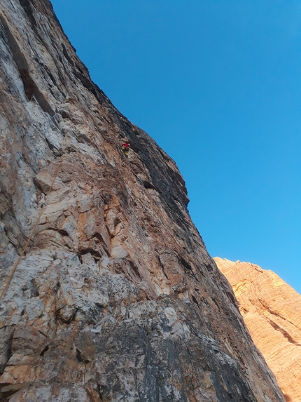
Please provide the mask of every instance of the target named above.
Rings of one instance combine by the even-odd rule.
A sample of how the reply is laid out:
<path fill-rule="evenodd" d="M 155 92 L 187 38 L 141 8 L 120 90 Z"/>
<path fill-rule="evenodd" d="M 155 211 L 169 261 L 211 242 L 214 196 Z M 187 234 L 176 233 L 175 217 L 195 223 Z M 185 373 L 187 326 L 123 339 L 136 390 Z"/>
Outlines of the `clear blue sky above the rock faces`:
<path fill-rule="evenodd" d="M 52 0 L 94 82 L 179 166 L 211 256 L 301 293 L 301 3 Z"/>

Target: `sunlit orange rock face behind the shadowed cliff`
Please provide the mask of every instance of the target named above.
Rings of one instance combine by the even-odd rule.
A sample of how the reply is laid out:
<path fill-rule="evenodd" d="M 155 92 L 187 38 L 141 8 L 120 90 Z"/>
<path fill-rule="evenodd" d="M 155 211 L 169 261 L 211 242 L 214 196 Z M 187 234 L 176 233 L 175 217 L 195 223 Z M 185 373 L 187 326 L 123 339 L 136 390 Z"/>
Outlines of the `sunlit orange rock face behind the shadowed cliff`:
<path fill-rule="evenodd" d="M 286 401 L 301 401 L 301 295 L 272 271 L 214 258 Z"/>

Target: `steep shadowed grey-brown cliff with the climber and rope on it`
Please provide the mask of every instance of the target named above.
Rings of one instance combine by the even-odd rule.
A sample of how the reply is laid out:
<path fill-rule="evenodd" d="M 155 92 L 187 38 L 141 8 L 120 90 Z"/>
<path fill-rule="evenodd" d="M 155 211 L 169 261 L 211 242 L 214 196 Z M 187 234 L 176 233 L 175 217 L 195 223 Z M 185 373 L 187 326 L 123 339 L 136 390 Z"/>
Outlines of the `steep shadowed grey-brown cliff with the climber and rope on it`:
<path fill-rule="evenodd" d="M 50 191 L 1 300 L 1 401 L 284 401 L 174 161 L 48 0 L 1 0 L 0 29 L 1 289 Z"/>

